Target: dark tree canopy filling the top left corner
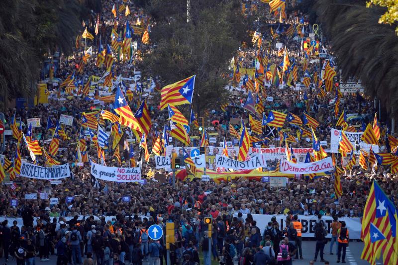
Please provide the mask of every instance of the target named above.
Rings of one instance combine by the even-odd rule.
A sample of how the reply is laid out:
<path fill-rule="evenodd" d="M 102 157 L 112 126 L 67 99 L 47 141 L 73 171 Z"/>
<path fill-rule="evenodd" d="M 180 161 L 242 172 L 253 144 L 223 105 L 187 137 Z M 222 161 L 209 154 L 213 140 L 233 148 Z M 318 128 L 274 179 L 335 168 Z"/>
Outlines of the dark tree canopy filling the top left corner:
<path fill-rule="evenodd" d="M 0 1 L 0 92 L 5 98 L 31 92 L 40 60 L 49 52 L 72 51 L 81 20 L 100 0 Z"/>

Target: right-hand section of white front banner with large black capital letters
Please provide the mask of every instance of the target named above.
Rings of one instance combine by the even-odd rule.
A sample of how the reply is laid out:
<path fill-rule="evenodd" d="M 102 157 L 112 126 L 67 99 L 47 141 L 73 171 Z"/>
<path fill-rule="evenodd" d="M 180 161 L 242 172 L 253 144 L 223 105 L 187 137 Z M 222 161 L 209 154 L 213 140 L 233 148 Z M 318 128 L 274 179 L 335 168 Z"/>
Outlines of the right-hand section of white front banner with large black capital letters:
<path fill-rule="evenodd" d="M 237 216 L 237 214 L 234 214 Z M 281 231 L 286 227 L 286 215 L 277 214 L 277 215 L 267 215 L 267 214 L 252 214 L 253 220 L 257 222 L 257 227 L 260 228 L 261 234 L 264 233 L 264 229 L 267 227 L 268 222 L 271 221 L 272 217 L 277 218 L 277 222 L 279 224 L 279 229 Z M 246 214 L 242 216 L 243 220 L 247 217 Z M 302 232 L 301 236 L 304 238 L 313 238 L 315 232 L 315 224 L 318 217 L 316 215 L 298 215 L 298 221 L 301 222 Z M 340 217 L 339 221 L 344 221 L 346 223 L 346 227 L 350 231 L 350 239 L 360 239 L 361 238 L 361 219 L 357 217 Z M 333 217 L 331 216 L 322 216 L 322 220 L 326 226 L 327 238 L 331 237 L 331 224 L 333 222 Z"/>

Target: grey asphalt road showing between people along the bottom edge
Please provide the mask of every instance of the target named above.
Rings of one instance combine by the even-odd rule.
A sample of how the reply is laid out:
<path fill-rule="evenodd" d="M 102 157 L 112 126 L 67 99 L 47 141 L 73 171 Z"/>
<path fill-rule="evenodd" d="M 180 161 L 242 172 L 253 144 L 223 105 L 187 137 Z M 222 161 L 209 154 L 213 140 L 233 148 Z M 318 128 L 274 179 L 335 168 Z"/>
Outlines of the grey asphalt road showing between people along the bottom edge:
<path fill-rule="evenodd" d="M 328 243 L 325 246 L 324 249 L 324 259 L 328 261 L 330 264 L 337 264 L 337 253 L 336 253 L 336 247 L 333 246 L 333 253 L 334 255 L 329 255 L 329 245 Z M 366 261 L 361 260 L 361 253 L 363 249 L 364 244 L 362 242 L 350 242 L 349 247 L 347 248 L 347 253 L 346 253 L 346 262 L 349 265 L 368 265 Z M 314 241 L 303 241 L 302 242 L 302 251 L 303 251 L 303 260 L 295 260 L 293 262 L 294 265 L 307 265 L 311 260 L 314 258 L 314 253 L 315 253 L 315 242 Z M 323 264 L 319 262 L 320 258 L 318 256 L 317 262 L 315 264 Z M 56 264 L 57 257 L 56 256 L 51 256 L 50 261 L 48 262 L 40 262 L 39 258 L 36 258 L 36 265 L 53 265 Z M 0 259 L 0 265 L 5 263 L 4 258 Z M 237 264 L 237 262 L 235 262 Z M 16 262 L 15 260 L 12 260 L 9 258 L 9 262 L 7 265 L 15 265 Z M 147 265 L 146 262 L 143 263 L 144 265 Z M 382 264 L 382 261 L 379 261 L 378 264 Z"/>

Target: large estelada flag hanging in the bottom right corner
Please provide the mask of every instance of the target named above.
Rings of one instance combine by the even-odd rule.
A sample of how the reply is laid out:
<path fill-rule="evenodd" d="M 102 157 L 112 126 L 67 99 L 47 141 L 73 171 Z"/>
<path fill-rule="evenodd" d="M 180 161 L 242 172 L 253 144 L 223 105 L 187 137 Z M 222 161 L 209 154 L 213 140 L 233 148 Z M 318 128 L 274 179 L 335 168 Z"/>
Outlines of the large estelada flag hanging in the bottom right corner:
<path fill-rule="evenodd" d="M 382 252 L 384 264 L 398 264 L 397 219 L 394 203 L 374 180 L 362 218 L 361 239 L 365 246 L 361 259 L 375 264 Z M 371 233 L 372 226 L 376 227 L 385 239 L 376 241 L 375 231 Z"/>

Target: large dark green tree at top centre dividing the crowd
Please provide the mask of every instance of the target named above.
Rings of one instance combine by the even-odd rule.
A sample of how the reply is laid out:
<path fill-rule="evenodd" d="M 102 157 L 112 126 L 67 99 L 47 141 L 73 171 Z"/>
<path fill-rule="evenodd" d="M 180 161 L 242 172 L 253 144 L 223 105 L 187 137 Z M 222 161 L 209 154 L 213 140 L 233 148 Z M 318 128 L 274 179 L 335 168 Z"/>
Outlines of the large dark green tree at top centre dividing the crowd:
<path fill-rule="evenodd" d="M 226 97 L 231 58 L 242 41 L 249 41 L 251 21 L 241 14 L 239 0 L 191 0 L 187 23 L 186 0 L 151 0 L 150 39 L 155 45 L 140 66 L 144 76 L 162 86 L 196 75 L 193 105 L 199 114 Z"/>

